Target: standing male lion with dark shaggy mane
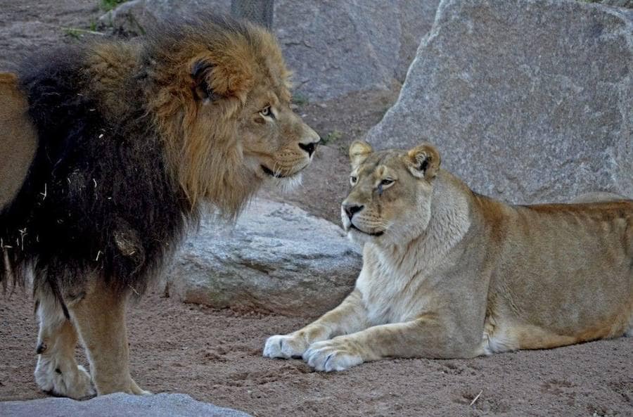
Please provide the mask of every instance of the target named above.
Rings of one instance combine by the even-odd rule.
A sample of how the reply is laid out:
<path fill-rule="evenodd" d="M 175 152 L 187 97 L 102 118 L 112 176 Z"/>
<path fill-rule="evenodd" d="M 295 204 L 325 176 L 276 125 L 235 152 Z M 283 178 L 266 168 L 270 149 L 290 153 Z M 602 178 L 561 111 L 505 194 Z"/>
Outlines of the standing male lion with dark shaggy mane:
<path fill-rule="evenodd" d="M 319 136 L 290 110 L 288 75 L 269 32 L 204 15 L 0 75 L 0 282 L 32 271 L 42 390 L 145 393 L 129 374 L 129 297 L 205 203 L 235 217 L 312 160 Z"/>

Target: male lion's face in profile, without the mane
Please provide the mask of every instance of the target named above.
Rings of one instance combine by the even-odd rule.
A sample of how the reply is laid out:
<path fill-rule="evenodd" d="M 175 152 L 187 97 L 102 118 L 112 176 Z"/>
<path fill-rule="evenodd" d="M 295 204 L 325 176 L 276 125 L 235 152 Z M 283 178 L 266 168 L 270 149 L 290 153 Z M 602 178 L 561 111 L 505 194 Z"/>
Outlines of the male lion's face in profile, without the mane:
<path fill-rule="evenodd" d="M 245 162 L 258 177 L 297 180 L 314 157 L 319 135 L 290 110 L 283 87 L 256 87 L 242 111 L 239 137 Z"/>

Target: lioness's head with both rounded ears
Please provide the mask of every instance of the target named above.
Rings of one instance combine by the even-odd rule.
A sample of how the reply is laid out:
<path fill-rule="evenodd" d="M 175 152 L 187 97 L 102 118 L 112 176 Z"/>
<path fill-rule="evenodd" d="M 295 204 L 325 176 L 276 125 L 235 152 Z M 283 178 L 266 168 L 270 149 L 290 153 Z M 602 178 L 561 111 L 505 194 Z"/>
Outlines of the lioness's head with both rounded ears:
<path fill-rule="evenodd" d="M 403 243 L 419 236 L 430 220 L 437 150 L 422 144 L 409 151 L 373 152 L 368 143 L 350 146 L 352 186 L 341 205 L 343 228 L 358 243 Z"/>

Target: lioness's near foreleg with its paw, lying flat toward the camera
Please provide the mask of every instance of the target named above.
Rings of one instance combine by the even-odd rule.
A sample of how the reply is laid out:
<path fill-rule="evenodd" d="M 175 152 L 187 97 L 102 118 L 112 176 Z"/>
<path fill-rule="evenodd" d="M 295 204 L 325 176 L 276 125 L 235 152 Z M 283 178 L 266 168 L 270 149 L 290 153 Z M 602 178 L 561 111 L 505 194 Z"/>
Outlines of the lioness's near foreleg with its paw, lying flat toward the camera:
<path fill-rule="evenodd" d="M 447 326 L 433 316 L 414 321 L 366 328 L 313 343 L 303 359 L 317 371 L 343 371 L 366 361 L 388 357 L 475 357 L 474 346 L 459 335 L 449 335 Z"/>

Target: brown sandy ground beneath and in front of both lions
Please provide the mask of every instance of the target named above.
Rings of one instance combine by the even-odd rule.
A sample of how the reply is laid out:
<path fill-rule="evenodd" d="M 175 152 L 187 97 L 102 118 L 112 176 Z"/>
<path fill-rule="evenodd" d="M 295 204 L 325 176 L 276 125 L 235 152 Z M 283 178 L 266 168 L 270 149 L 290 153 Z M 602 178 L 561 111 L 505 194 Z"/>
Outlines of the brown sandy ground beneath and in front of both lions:
<path fill-rule="evenodd" d="M 253 416 L 633 415 L 631 338 L 468 360 L 395 359 L 340 373 L 261 356 L 267 335 L 306 321 L 150 293 L 129 310 L 132 375 L 153 392 L 186 392 Z M 36 333 L 29 297 L 3 300 L 0 399 L 44 397 L 32 378 Z"/>

